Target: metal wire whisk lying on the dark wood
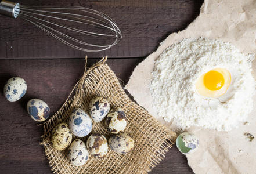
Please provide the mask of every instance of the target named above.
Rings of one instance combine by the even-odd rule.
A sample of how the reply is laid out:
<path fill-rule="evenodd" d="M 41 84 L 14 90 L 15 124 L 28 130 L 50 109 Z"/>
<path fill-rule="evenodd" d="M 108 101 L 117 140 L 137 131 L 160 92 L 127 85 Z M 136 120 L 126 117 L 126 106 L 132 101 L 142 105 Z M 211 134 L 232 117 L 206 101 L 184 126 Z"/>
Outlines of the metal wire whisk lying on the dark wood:
<path fill-rule="evenodd" d="M 122 38 L 120 29 L 109 16 L 80 6 L 26 6 L 3 0 L 0 14 L 22 18 L 84 52 L 109 49 Z"/>

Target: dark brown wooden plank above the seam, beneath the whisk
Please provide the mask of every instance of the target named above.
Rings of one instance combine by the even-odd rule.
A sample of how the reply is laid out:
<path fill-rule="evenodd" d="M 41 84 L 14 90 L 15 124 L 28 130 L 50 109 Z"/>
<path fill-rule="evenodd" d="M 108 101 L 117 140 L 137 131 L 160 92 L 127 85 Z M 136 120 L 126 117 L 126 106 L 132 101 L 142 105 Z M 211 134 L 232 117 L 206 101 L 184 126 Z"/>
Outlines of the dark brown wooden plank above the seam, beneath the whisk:
<path fill-rule="evenodd" d="M 85 6 L 106 13 L 120 27 L 122 40 L 107 51 L 88 53 L 88 56 L 145 57 L 156 50 L 169 34 L 186 28 L 199 14 L 203 0 L 23 0 L 20 3 Z M 0 15 L 0 21 L 0 59 L 84 57 L 83 52 L 56 41 L 19 17 L 11 19 Z"/>

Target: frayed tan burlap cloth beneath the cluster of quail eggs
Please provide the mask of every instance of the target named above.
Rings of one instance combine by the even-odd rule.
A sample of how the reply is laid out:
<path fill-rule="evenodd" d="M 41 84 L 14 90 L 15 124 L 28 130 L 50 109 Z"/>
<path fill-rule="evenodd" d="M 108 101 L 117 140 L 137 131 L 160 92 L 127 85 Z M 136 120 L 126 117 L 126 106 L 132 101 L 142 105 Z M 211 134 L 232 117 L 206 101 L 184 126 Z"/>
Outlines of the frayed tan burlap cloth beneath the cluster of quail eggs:
<path fill-rule="evenodd" d="M 85 69 L 83 77 L 75 85 L 73 97 L 68 97 L 70 99 L 44 124 L 41 144 L 53 173 L 147 173 L 163 160 L 168 148 L 175 142 L 176 133 L 161 125 L 144 108 L 129 99 L 106 60 L 107 57 L 104 57 L 88 71 Z M 67 159 L 67 150 L 57 151 L 51 146 L 51 131 L 60 122 L 67 122 L 74 108 L 88 111 L 89 100 L 95 95 L 106 97 L 111 106 L 124 109 L 128 118 L 124 132 L 134 138 L 135 147 L 125 155 L 117 154 L 109 148 L 103 159 L 89 157 L 85 165 L 72 166 Z M 102 133 L 107 139 L 110 137 L 103 122 L 93 122 L 91 133 Z M 88 137 L 82 140 L 86 142 Z"/>

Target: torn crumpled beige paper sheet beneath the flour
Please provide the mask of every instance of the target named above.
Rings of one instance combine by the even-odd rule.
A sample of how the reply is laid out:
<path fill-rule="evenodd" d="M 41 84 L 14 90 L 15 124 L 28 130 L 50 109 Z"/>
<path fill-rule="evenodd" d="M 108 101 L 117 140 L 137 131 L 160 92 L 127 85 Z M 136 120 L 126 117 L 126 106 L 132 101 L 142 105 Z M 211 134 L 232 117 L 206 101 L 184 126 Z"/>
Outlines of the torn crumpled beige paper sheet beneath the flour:
<path fill-rule="evenodd" d="M 205 0 L 199 17 L 186 30 L 169 35 L 156 52 L 140 63 L 131 75 L 125 88 L 140 106 L 145 107 L 156 119 L 175 129 L 175 122 L 165 122 L 152 107 L 149 84 L 152 79 L 154 60 L 174 42 L 183 38 L 215 38 L 231 42 L 241 52 L 256 53 L 256 1 L 255 0 Z M 253 75 L 256 79 L 256 62 Z M 256 97 L 254 97 L 256 103 Z M 256 105 L 254 103 L 254 108 Z M 199 148 L 188 154 L 188 163 L 195 173 L 255 173 L 256 138 L 248 142 L 245 132 L 256 137 L 256 109 L 249 115 L 249 125 L 241 125 L 229 132 L 189 128 L 199 137 Z"/>

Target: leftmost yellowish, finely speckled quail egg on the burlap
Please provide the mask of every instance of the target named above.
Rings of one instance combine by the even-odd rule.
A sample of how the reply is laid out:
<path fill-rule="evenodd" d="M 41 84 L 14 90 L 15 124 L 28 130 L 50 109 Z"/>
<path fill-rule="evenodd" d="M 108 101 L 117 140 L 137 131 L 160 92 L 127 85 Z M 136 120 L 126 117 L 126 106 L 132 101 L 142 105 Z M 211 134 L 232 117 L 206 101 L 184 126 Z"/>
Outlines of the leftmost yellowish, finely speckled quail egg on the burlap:
<path fill-rule="evenodd" d="M 52 130 L 52 146 L 56 150 L 64 150 L 72 142 L 72 133 L 66 123 L 60 123 Z"/>

